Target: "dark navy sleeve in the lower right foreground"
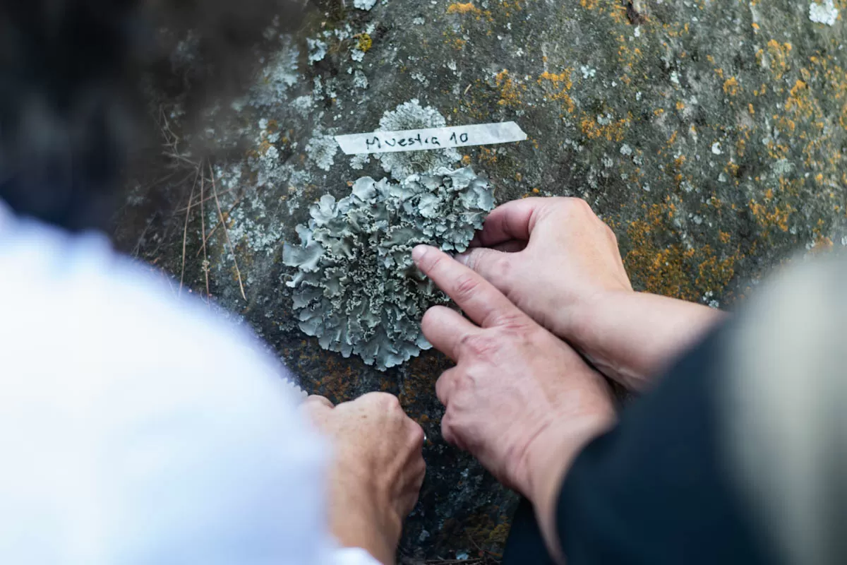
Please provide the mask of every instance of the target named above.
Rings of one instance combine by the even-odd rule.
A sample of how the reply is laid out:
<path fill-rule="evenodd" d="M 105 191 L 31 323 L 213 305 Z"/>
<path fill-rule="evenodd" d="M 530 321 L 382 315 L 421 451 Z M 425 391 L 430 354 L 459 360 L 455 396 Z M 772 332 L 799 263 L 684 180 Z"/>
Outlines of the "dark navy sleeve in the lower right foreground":
<path fill-rule="evenodd" d="M 719 343 L 720 330 L 577 457 L 557 505 L 568 565 L 770 562 L 722 457 Z"/>

